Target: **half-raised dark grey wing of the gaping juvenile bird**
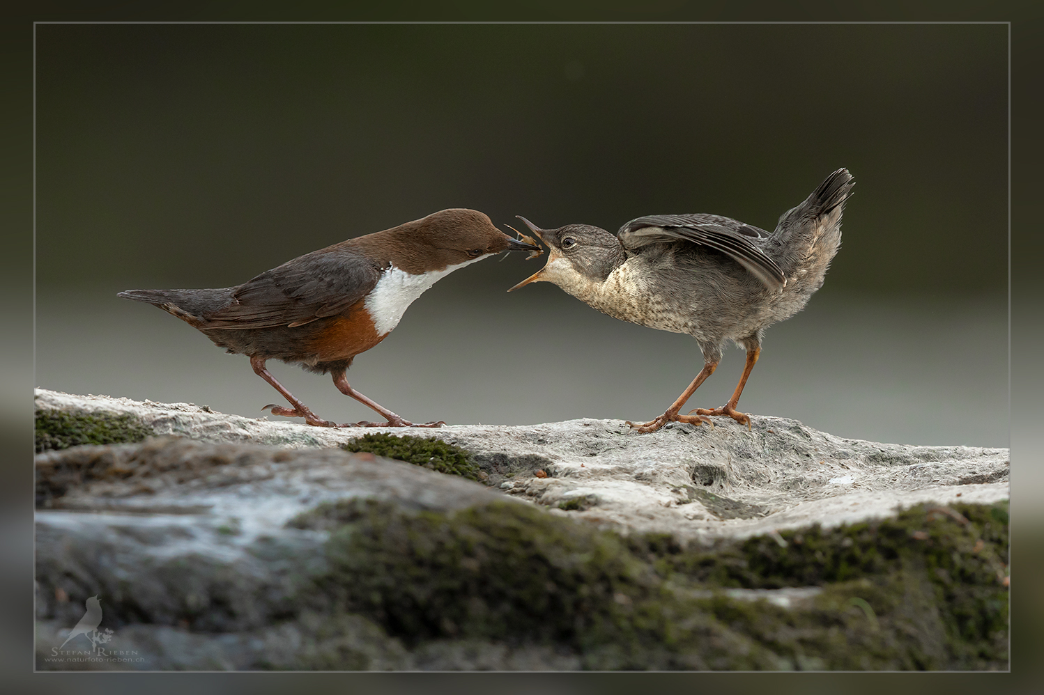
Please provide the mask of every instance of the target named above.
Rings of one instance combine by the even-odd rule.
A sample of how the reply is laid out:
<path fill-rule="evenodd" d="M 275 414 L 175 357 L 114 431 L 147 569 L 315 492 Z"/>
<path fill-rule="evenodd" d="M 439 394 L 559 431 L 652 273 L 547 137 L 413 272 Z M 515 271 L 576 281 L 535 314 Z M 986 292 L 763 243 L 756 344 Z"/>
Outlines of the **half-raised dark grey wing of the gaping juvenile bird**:
<path fill-rule="evenodd" d="M 753 239 L 768 232 L 719 215 L 646 215 L 633 219 L 617 232 L 623 247 L 631 250 L 651 243 L 689 241 L 726 254 L 770 289 L 786 284 L 779 265 L 758 248 Z"/>

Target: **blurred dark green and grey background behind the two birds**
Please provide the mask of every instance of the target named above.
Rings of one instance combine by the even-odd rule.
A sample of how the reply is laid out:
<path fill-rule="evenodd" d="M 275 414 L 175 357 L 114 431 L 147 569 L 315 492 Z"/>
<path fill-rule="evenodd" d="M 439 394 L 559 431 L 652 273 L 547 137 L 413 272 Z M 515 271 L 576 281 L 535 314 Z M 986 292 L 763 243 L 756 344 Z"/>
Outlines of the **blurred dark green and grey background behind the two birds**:
<path fill-rule="evenodd" d="M 278 397 L 245 358 L 116 292 L 235 285 L 450 207 L 773 229 L 846 166 L 843 248 L 741 409 L 1007 446 L 1005 25 L 40 25 L 35 55 L 38 386 L 257 416 Z M 662 412 L 695 342 L 504 292 L 542 263 L 447 278 L 349 379 L 421 422 Z M 372 416 L 270 366 L 323 417 Z"/>

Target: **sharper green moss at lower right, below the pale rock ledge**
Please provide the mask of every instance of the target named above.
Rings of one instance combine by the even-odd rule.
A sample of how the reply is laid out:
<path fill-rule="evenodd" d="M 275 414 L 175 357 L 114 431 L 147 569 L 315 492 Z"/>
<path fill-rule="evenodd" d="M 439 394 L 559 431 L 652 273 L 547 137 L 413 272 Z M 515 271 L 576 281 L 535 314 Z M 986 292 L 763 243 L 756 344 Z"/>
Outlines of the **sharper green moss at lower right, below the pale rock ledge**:
<path fill-rule="evenodd" d="M 847 643 L 855 630 L 878 645 L 847 652 L 831 647 L 827 633 L 805 640 L 803 653 L 834 653 L 824 668 L 1004 669 L 1007 542 L 1004 502 L 922 505 L 893 519 L 707 549 L 662 538 L 631 543 L 662 576 L 727 588 L 824 588 L 812 609 L 788 614 L 790 627 L 840 630 Z M 744 620 L 744 631 L 754 629 L 754 619 Z M 798 646 L 788 651 L 796 655 Z"/>

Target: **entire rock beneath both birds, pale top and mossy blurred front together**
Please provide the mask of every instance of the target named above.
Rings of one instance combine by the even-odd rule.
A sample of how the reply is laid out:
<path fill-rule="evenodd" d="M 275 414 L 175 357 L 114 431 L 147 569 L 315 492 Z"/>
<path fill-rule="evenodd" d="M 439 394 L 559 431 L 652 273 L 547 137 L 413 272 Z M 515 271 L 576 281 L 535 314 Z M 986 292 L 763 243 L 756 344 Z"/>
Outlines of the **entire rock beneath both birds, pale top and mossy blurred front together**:
<path fill-rule="evenodd" d="M 35 405 L 40 670 L 1007 668 L 1006 449 Z"/>

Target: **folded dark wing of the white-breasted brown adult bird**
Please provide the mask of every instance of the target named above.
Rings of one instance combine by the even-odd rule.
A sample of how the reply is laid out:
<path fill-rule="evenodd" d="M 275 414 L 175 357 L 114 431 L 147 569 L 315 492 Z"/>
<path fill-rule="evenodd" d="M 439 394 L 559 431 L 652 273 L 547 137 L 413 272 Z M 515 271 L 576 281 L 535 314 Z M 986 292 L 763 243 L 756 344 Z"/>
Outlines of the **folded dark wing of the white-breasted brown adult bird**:
<path fill-rule="evenodd" d="M 235 288 L 232 302 L 200 328 L 290 328 L 335 316 L 366 296 L 381 268 L 350 253 L 317 250 L 266 270 Z"/>

